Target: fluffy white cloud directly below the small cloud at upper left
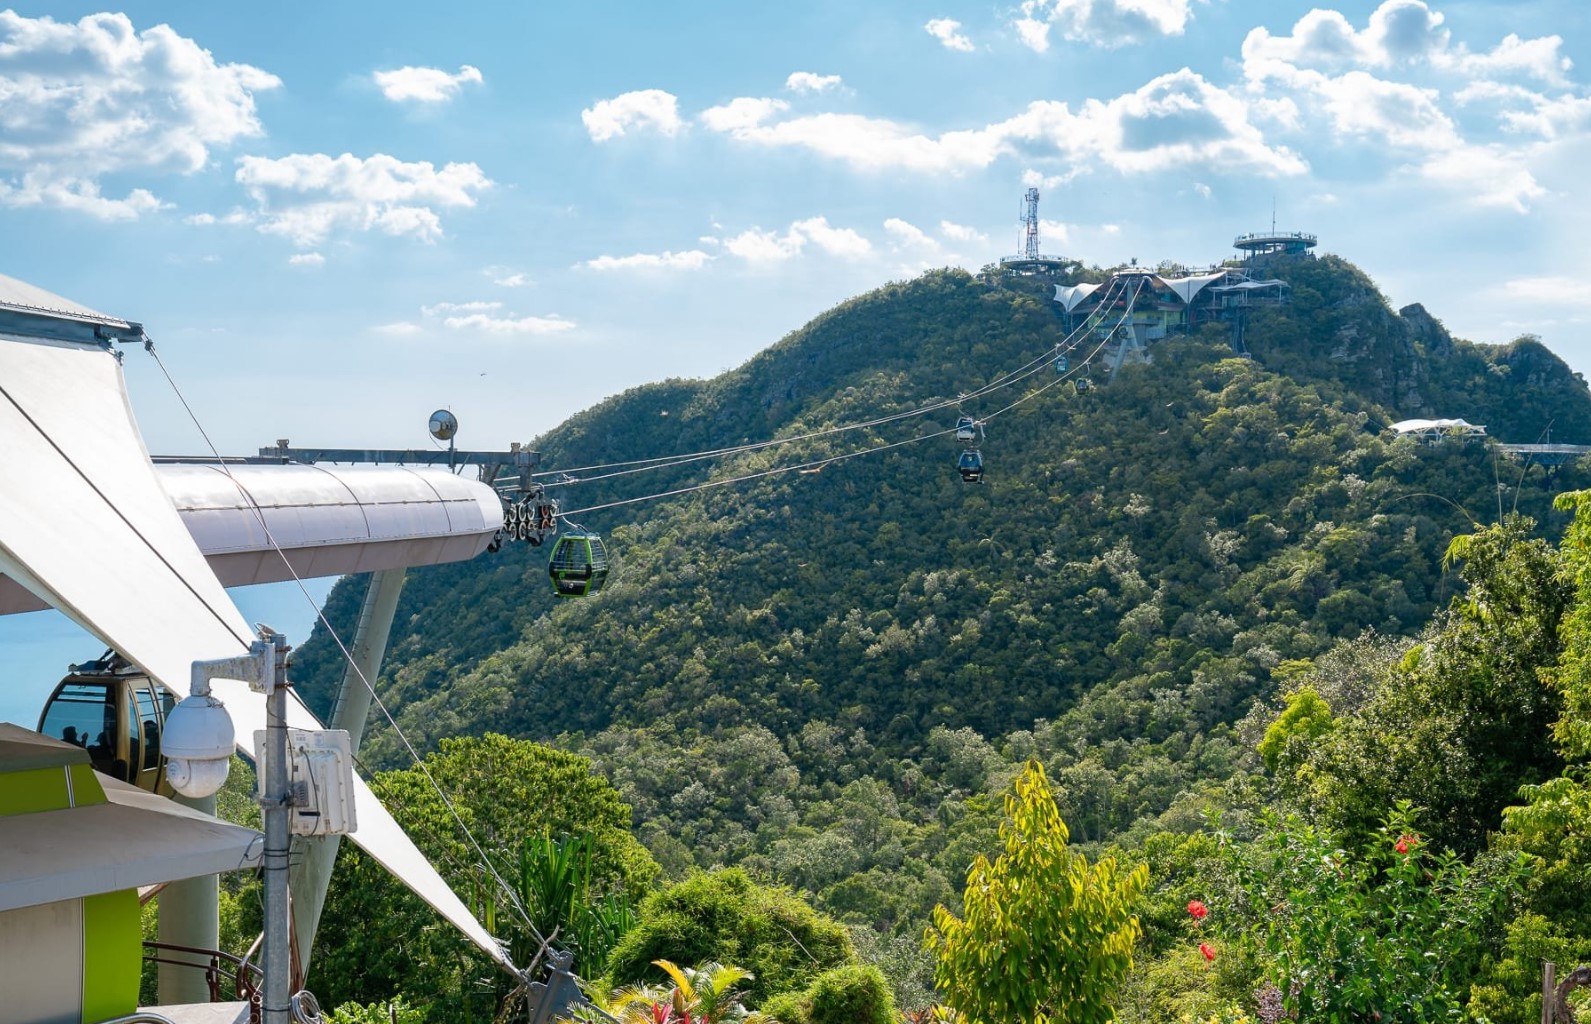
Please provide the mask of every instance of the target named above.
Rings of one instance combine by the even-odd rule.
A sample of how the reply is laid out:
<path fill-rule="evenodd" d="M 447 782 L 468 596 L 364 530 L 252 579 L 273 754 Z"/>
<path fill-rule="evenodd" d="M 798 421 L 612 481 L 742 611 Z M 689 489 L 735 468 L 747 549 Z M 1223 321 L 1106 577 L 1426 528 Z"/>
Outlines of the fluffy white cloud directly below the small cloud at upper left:
<path fill-rule="evenodd" d="M 237 181 L 259 207 L 259 231 L 320 245 L 333 231 L 382 231 L 422 242 L 442 237 L 438 210 L 468 208 L 492 186 L 474 164 L 404 162 L 377 153 L 294 153 L 280 159 L 245 156 Z"/>

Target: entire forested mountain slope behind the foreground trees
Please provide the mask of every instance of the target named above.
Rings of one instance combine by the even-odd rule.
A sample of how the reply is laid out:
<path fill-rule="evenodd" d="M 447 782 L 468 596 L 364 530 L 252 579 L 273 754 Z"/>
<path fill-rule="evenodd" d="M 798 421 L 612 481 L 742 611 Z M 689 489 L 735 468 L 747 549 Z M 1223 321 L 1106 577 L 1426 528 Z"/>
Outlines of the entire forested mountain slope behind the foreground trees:
<path fill-rule="evenodd" d="M 942 270 L 714 380 L 608 399 L 531 442 L 578 479 L 555 488 L 566 510 L 737 482 L 573 515 L 617 558 L 597 598 L 557 601 L 546 552 L 523 545 L 412 572 L 383 700 L 422 749 L 495 731 L 585 754 L 665 873 L 743 865 L 808 890 L 923 1005 L 923 924 L 993 848 L 994 793 L 1026 758 L 1074 841 L 1196 830 L 1258 771 L 1274 712 L 1244 720 L 1255 701 L 1327 652 L 1327 673 L 1352 663 L 1341 676 L 1394 663 L 1464 590 L 1443 564 L 1454 536 L 1519 512 L 1556 537 L 1570 512 L 1553 495 L 1588 485 L 1575 466 L 1386 431 L 1462 417 L 1503 440 L 1591 442 L 1585 382 L 1540 342 L 1453 339 L 1336 258 L 1278 272 L 1292 302 L 1254 313 L 1254 358 L 1212 326 L 1096 369 L 1087 391 L 1045 367 L 888 420 L 1064 337 L 1047 286 Z M 961 482 L 948 434 L 912 440 L 958 412 L 986 421 L 982 485 Z M 778 437 L 802 439 L 589 469 Z M 757 475 L 864 448 L 880 450 Z M 361 592 L 334 588 L 339 628 Z M 320 633 L 298 652 L 312 703 L 334 655 Z M 396 766 L 398 751 L 372 722 L 363 757 Z"/>

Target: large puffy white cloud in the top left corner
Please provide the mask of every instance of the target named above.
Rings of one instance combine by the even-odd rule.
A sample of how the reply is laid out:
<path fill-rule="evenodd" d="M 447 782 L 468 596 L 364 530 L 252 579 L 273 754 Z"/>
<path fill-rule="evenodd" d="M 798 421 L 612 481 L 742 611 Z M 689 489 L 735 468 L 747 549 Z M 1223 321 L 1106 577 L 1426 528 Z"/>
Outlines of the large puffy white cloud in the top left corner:
<path fill-rule="evenodd" d="M 99 176 L 148 170 L 191 173 L 212 146 L 264 134 L 255 94 L 282 81 L 126 14 L 76 22 L 0 10 L 0 202 L 53 205 L 130 219 L 162 204 L 135 188 L 100 194 Z"/>

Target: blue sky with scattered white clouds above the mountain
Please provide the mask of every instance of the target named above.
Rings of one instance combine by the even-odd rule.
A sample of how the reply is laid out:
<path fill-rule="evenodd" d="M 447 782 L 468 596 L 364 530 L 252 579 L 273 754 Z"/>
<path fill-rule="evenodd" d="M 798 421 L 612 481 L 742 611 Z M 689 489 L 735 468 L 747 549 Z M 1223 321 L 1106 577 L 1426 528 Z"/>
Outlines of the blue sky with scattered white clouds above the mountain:
<path fill-rule="evenodd" d="M 1581 0 L 43 3 L 0 14 L 0 273 L 140 320 L 216 444 L 528 440 L 1017 250 L 1321 235 L 1591 372 Z M 202 440 L 127 355 L 151 450 Z M 1464 415 L 1464 410 L 1445 410 Z M 1570 440 L 1570 439 L 1564 439 Z M 1591 440 L 1591 439 L 1572 439 Z"/>

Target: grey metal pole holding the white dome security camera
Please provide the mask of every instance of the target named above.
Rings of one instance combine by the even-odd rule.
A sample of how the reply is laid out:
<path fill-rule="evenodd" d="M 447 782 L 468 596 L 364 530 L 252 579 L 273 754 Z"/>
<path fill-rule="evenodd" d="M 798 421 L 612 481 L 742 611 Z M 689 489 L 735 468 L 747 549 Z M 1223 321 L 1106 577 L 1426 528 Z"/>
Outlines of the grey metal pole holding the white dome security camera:
<path fill-rule="evenodd" d="M 272 682 L 266 696 L 266 781 L 261 785 L 259 806 L 266 819 L 266 948 L 263 967 L 266 991 L 261 994 L 264 1024 L 291 1024 L 291 951 L 288 949 L 288 816 L 291 793 L 288 792 L 288 679 L 286 638 L 280 633 L 270 638 Z"/>

